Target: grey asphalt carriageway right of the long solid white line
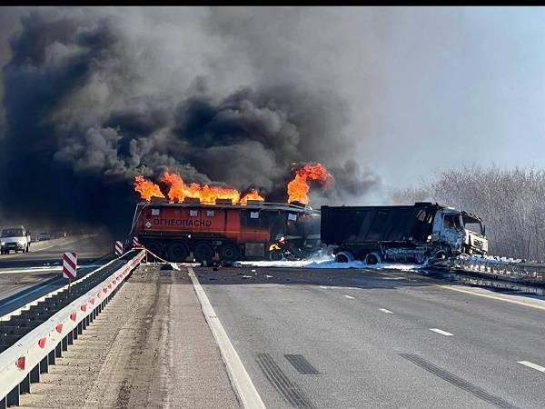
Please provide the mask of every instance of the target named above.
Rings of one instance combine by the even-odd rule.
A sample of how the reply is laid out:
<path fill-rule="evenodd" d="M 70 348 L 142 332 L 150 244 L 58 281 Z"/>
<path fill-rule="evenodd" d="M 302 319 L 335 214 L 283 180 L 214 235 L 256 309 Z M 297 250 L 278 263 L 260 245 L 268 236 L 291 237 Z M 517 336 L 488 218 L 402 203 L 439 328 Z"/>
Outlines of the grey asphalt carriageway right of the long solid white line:
<path fill-rule="evenodd" d="M 194 270 L 269 407 L 545 401 L 545 302 L 512 304 L 396 271 Z"/>

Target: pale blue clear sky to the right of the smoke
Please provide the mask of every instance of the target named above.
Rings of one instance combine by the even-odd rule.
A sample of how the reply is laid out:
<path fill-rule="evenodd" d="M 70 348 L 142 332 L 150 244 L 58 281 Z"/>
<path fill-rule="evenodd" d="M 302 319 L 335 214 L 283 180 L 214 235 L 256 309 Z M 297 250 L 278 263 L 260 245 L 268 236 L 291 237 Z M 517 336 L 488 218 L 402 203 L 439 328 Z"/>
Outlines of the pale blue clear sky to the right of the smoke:
<path fill-rule="evenodd" d="M 457 165 L 545 165 L 545 9 L 339 13 L 373 78 L 345 84 L 352 109 L 365 107 L 351 132 L 385 183 Z"/>

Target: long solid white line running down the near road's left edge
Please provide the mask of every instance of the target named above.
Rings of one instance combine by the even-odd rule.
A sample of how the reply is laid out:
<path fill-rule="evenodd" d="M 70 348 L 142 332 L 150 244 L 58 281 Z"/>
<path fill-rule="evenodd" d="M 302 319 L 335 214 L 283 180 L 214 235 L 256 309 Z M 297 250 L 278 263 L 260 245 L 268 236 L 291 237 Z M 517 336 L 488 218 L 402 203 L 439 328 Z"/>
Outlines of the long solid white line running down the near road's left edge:
<path fill-rule="evenodd" d="M 244 408 L 265 409 L 265 404 L 263 404 L 263 400 L 257 392 L 257 389 L 255 389 L 252 378 L 250 378 L 250 375 L 246 372 L 246 368 L 244 368 L 240 356 L 236 353 L 233 344 L 231 344 L 231 340 L 227 336 L 220 319 L 213 311 L 213 306 L 210 304 L 206 293 L 204 293 L 203 286 L 199 283 L 198 278 L 193 272 L 193 268 L 187 267 L 187 270 L 189 271 L 189 276 L 191 277 L 199 303 L 201 303 L 204 318 L 222 353 L 223 362 L 227 368 L 227 374 L 229 374 L 231 383 L 234 386 L 234 392 L 238 395 Z"/>

